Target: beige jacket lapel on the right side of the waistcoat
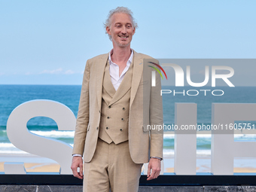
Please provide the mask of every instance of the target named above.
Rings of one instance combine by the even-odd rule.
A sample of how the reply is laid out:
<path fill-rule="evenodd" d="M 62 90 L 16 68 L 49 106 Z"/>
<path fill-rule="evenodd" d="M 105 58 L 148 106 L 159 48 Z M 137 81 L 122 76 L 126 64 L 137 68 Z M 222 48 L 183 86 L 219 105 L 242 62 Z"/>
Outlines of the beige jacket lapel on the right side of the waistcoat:
<path fill-rule="evenodd" d="M 136 51 L 133 50 L 133 79 L 132 79 L 132 87 L 131 87 L 131 99 L 130 99 L 130 107 L 133 104 L 133 100 L 136 96 L 139 82 L 142 78 L 142 72 L 143 72 L 143 59 L 139 55 L 139 53 L 136 53 Z"/>

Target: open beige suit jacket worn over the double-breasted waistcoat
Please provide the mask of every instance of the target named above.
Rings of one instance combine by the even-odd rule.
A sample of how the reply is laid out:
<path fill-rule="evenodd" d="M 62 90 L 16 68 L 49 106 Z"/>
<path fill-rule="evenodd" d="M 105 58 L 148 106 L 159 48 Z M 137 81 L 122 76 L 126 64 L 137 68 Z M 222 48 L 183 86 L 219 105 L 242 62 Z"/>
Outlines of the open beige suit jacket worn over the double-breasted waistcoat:
<path fill-rule="evenodd" d="M 149 157 L 163 158 L 163 130 L 148 129 L 148 125 L 163 125 L 160 75 L 156 77 L 156 87 L 151 87 L 151 70 L 154 69 L 142 63 L 143 59 L 152 58 L 134 50 L 133 53 L 129 148 L 134 163 L 148 163 Z M 96 150 L 106 62 L 108 53 L 88 59 L 84 69 L 73 154 L 84 154 L 85 162 L 92 160 Z M 148 75 L 145 75 L 146 71 Z"/>

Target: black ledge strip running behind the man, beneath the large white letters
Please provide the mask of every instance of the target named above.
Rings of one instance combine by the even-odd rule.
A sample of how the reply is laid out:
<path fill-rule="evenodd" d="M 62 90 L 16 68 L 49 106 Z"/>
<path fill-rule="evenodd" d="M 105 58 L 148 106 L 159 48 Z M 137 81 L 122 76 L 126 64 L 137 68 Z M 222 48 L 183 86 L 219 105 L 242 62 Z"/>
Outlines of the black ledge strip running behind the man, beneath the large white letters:
<path fill-rule="evenodd" d="M 1 175 L 0 184 L 14 185 L 82 185 L 73 175 Z M 160 175 L 147 181 L 146 175 L 139 180 L 140 186 L 243 186 L 256 185 L 256 175 Z"/>

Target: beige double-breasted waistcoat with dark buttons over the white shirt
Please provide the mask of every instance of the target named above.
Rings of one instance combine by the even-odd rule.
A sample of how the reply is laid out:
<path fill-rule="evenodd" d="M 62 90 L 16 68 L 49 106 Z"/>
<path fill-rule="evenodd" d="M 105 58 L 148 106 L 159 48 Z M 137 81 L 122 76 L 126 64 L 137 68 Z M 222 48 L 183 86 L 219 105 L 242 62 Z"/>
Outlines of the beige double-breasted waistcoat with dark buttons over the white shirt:
<path fill-rule="evenodd" d="M 102 110 L 99 138 L 107 143 L 119 144 L 128 140 L 130 90 L 133 78 L 133 63 L 124 75 L 117 91 L 111 83 L 109 62 L 105 67 L 102 88 Z"/>

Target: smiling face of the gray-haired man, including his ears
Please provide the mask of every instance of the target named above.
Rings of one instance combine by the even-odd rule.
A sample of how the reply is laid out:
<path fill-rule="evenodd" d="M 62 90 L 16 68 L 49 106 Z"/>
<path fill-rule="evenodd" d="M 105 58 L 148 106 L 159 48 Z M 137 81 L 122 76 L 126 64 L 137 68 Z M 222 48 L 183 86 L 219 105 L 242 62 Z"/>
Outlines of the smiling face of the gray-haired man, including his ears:
<path fill-rule="evenodd" d="M 112 37 L 113 45 L 118 47 L 130 46 L 135 28 L 128 14 L 117 13 L 111 17 L 111 26 L 106 28 Z"/>

